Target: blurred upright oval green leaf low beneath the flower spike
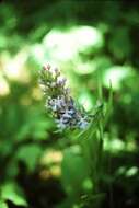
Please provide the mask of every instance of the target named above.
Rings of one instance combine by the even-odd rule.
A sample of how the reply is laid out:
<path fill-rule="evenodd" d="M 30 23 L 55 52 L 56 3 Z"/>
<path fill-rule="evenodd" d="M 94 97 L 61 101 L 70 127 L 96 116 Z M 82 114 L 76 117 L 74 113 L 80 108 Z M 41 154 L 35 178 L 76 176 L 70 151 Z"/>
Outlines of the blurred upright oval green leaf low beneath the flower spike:
<path fill-rule="evenodd" d="M 61 170 L 61 181 L 67 193 L 78 195 L 84 188 L 89 172 L 84 158 L 79 154 L 77 147 L 65 150 Z"/>

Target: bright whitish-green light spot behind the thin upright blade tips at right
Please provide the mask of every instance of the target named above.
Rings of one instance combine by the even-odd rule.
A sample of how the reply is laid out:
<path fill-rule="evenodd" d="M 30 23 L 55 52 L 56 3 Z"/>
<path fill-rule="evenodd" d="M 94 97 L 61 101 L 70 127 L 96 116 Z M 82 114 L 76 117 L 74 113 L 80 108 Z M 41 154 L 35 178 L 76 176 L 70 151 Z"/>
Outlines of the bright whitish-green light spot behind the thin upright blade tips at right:
<path fill-rule="evenodd" d="M 123 79 L 127 78 L 131 74 L 131 68 L 130 67 L 120 67 L 120 66 L 114 66 L 107 69 L 103 82 L 104 85 L 109 88 L 109 81 L 112 82 L 112 86 L 114 90 L 119 89 L 120 82 Z"/>

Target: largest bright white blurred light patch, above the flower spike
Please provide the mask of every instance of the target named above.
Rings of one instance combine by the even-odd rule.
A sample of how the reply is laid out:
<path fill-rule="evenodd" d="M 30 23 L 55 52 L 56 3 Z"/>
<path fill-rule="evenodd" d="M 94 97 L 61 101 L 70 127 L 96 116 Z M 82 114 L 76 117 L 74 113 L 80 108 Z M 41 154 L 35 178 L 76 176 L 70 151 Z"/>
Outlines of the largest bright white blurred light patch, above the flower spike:
<path fill-rule="evenodd" d="M 88 47 L 101 47 L 103 45 L 102 33 L 91 26 L 71 27 L 62 32 L 51 30 L 43 41 L 49 56 L 58 60 L 71 60 Z"/>

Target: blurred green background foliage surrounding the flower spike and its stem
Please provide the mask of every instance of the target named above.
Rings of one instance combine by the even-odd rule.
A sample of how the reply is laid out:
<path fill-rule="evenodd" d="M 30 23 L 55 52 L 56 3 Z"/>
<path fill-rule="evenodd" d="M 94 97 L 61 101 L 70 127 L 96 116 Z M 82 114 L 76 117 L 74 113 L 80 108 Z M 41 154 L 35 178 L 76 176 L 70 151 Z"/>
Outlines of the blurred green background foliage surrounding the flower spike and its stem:
<path fill-rule="evenodd" d="M 139 4 L 7 0 L 0 3 L 0 208 L 80 208 L 93 184 L 70 134 L 55 134 L 38 86 L 49 61 L 86 111 L 97 78 L 113 113 L 104 132 L 99 208 L 139 206 Z M 92 160 L 93 162 L 93 160 Z"/>

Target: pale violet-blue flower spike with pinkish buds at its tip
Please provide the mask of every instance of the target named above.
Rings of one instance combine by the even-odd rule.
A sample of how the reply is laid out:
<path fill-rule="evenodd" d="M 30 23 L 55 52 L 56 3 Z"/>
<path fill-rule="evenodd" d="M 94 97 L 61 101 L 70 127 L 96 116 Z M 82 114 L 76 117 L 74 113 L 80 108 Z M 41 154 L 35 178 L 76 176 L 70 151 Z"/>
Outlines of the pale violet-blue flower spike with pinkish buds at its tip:
<path fill-rule="evenodd" d="M 46 95 L 46 107 L 55 117 L 59 129 L 86 128 L 89 117 L 77 108 L 69 89 L 66 88 L 66 79 L 60 76 L 57 68 L 53 69 L 47 65 L 42 69 L 40 85 Z"/>

